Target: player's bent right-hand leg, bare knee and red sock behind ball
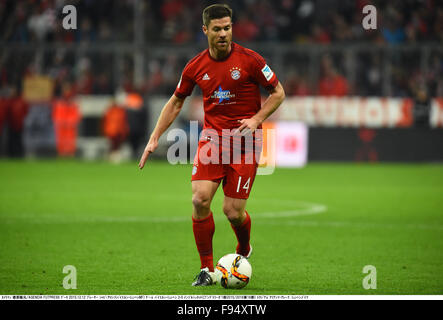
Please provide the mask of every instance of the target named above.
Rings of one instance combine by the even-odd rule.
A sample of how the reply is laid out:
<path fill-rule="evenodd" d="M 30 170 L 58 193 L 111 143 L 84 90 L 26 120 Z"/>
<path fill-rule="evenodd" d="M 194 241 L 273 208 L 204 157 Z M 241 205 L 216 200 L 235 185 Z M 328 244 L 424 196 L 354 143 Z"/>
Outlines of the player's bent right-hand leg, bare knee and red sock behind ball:
<path fill-rule="evenodd" d="M 231 223 L 237 237 L 236 252 L 242 256 L 248 257 L 251 253 L 251 217 L 246 208 L 246 199 L 232 198 L 225 196 L 223 200 L 223 212 Z"/>

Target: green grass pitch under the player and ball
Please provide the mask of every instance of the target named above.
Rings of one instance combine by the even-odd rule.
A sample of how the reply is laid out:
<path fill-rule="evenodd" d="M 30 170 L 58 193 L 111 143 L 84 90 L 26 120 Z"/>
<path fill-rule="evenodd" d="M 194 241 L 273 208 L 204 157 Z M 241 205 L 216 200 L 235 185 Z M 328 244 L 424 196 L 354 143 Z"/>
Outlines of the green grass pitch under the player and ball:
<path fill-rule="evenodd" d="M 443 294 L 443 166 L 313 163 L 258 176 L 242 290 L 194 288 L 191 166 L 0 161 L 0 294 Z M 213 202 L 214 258 L 235 235 Z M 63 288 L 63 267 L 77 289 Z M 362 286 L 365 265 L 377 289 Z"/>

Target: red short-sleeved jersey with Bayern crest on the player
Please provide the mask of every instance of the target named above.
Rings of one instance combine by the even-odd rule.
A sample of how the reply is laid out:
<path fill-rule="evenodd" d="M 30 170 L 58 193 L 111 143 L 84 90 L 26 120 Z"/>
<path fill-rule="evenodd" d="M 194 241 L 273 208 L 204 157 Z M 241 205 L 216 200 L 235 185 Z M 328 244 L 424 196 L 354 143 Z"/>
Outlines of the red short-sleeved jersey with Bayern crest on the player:
<path fill-rule="evenodd" d="M 220 134 L 222 129 L 235 129 L 238 120 L 254 116 L 261 108 L 260 87 L 275 88 L 277 76 L 258 53 L 231 43 L 231 52 L 215 60 L 204 50 L 191 59 L 183 70 L 174 92 L 178 98 L 201 88 L 205 111 L 204 128 Z"/>

